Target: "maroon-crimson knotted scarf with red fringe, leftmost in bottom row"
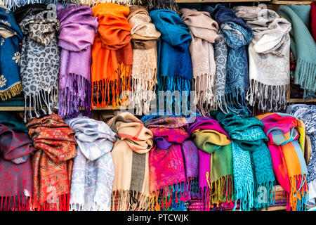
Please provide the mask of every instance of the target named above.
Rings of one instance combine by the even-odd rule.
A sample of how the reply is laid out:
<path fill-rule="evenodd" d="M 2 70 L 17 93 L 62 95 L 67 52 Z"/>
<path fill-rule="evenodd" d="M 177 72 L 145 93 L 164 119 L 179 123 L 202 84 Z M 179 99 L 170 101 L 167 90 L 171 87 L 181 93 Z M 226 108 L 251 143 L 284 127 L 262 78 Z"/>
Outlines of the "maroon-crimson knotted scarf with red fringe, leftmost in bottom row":
<path fill-rule="evenodd" d="M 0 211 L 31 208 L 34 152 L 28 129 L 10 113 L 0 113 Z"/>

